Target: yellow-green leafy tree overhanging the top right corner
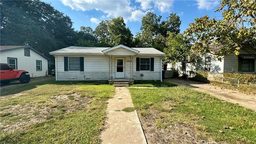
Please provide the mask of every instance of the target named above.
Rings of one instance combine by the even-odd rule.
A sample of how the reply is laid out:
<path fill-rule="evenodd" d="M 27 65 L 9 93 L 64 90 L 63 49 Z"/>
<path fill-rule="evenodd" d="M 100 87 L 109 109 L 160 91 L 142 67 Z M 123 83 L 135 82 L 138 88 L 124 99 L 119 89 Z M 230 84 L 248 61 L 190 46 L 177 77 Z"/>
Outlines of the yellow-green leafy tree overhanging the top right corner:
<path fill-rule="evenodd" d="M 216 58 L 227 54 L 239 54 L 244 50 L 256 58 L 256 1 L 255 0 L 222 0 L 216 12 L 222 13 L 222 20 L 210 19 L 209 16 L 196 18 L 185 31 L 194 38 L 192 48 L 196 52 L 216 50 Z M 250 45 L 255 52 L 246 49 Z"/>

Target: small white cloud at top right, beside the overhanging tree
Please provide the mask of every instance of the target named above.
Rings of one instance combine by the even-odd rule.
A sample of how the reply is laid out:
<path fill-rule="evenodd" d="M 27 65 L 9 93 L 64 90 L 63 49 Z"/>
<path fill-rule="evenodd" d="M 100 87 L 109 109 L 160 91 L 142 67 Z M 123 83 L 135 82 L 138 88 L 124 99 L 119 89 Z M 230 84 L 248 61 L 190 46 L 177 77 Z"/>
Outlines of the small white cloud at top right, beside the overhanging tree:
<path fill-rule="evenodd" d="M 219 0 L 196 0 L 198 9 L 206 9 L 211 10 L 212 8 L 216 7 L 220 1 Z"/>

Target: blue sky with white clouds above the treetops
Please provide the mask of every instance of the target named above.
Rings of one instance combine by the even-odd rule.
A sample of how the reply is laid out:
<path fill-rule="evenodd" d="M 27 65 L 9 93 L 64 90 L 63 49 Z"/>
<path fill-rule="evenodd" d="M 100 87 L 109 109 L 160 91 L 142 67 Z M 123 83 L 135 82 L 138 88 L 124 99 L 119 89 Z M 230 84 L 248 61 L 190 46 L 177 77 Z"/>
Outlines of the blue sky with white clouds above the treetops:
<path fill-rule="evenodd" d="M 63 12 L 72 20 L 75 30 L 80 26 L 90 26 L 93 30 L 102 20 L 122 16 L 126 27 L 132 34 L 140 32 L 141 18 L 148 11 L 162 20 L 170 13 L 180 16 L 180 32 L 188 28 L 195 18 L 209 15 L 221 19 L 219 12 L 214 12 L 220 6 L 219 0 L 42 0 L 50 3 L 55 9 Z"/>

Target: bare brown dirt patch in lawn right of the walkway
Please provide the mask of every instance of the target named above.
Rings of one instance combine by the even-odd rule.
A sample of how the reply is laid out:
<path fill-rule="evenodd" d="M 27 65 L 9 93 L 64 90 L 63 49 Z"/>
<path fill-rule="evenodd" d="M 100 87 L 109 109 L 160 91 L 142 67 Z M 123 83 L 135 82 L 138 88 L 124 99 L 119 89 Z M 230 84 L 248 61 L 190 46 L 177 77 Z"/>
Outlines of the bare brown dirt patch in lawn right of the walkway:
<path fill-rule="evenodd" d="M 165 119 L 155 110 L 148 110 L 145 116 L 138 115 L 148 144 L 217 144 L 210 138 L 207 142 L 203 140 L 202 133 L 186 122 L 177 121 L 166 128 L 158 128 L 157 123 Z"/>

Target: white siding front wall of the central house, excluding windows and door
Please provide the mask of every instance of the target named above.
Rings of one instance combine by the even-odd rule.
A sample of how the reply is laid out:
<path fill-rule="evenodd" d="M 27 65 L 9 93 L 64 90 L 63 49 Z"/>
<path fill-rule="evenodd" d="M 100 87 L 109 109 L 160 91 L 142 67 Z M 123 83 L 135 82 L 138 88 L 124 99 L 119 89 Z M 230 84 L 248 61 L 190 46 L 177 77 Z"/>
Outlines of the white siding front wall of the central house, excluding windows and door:
<path fill-rule="evenodd" d="M 108 56 L 73 56 L 84 57 L 84 72 L 80 71 L 64 71 L 64 56 L 56 56 L 57 58 L 57 79 L 60 81 L 69 80 L 109 80 L 109 64 Z M 136 72 L 136 57 L 152 58 L 154 57 L 154 71 L 138 71 Z M 115 78 L 116 58 L 124 58 L 125 78 L 130 78 L 130 56 L 112 56 L 112 77 Z M 160 80 L 162 72 L 161 56 L 134 56 L 132 59 L 133 69 L 132 77 L 134 80 Z M 132 64 L 132 63 L 131 63 Z M 143 76 L 141 76 L 143 74 Z"/>

